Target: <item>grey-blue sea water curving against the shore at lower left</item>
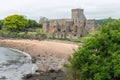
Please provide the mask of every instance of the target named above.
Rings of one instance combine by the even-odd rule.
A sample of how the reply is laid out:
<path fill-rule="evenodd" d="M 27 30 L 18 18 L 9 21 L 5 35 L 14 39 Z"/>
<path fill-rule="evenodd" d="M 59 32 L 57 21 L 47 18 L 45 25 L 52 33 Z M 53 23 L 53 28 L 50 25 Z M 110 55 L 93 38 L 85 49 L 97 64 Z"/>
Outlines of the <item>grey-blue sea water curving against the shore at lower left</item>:
<path fill-rule="evenodd" d="M 31 58 L 20 51 L 0 47 L 0 80 L 22 80 L 32 72 Z"/>

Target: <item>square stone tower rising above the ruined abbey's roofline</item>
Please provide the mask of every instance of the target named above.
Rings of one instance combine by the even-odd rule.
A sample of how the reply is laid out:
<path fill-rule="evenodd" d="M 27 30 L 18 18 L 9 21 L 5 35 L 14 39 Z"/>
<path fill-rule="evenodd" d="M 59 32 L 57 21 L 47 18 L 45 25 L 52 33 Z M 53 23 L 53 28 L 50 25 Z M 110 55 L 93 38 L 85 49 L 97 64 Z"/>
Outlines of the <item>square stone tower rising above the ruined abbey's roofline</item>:
<path fill-rule="evenodd" d="M 83 9 L 72 9 L 73 20 L 86 20 Z"/>

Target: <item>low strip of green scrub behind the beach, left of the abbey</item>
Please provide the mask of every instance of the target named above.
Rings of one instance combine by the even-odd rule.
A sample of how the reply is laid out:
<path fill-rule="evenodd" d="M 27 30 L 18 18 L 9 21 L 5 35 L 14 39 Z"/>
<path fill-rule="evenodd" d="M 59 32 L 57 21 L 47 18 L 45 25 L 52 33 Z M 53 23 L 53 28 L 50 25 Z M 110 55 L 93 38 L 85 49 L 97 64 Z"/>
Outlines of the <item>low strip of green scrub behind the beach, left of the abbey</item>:
<path fill-rule="evenodd" d="M 4 38 L 22 38 L 22 39 L 36 39 L 44 40 L 47 38 L 46 33 L 39 32 L 11 32 L 8 30 L 0 30 L 0 37 Z"/>

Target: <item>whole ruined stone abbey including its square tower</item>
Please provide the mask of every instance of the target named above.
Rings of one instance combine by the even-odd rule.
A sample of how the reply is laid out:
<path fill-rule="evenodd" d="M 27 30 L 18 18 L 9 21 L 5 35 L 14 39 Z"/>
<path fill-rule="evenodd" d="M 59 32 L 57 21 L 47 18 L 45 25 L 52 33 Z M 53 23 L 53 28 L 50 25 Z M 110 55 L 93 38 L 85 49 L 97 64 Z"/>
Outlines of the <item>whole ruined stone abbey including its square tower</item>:
<path fill-rule="evenodd" d="M 97 29 L 95 20 L 87 20 L 83 9 L 72 9 L 72 19 L 45 20 L 43 31 L 49 38 L 79 38 Z"/>

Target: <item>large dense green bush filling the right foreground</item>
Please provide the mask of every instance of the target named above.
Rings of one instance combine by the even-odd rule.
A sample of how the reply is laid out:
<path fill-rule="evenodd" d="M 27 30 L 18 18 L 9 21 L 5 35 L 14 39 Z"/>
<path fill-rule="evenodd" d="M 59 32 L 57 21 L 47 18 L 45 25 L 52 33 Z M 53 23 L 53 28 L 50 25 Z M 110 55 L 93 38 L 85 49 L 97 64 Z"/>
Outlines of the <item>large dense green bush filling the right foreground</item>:
<path fill-rule="evenodd" d="M 120 80 L 120 19 L 103 24 L 69 62 L 69 80 Z"/>

